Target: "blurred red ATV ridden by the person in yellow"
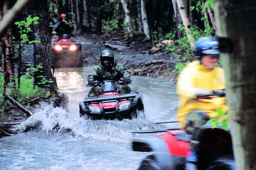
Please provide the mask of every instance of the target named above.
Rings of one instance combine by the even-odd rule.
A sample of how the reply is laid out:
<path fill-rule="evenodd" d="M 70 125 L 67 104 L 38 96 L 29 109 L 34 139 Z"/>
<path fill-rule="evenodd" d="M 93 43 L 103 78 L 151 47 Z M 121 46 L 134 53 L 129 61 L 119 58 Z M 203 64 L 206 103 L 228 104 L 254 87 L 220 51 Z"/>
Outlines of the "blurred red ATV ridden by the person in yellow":
<path fill-rule="evenodd" d="M 201 95 L 199 98 L 223 97 L 225 92 Z M 155 124 L 177 123 L 167 121 Z M 132 149 L 151 152 L 138 170 L 235 170 L 230 134 L 222 126 L 201 126 L 198 135 L 178 127 L 133 131 Z"/>

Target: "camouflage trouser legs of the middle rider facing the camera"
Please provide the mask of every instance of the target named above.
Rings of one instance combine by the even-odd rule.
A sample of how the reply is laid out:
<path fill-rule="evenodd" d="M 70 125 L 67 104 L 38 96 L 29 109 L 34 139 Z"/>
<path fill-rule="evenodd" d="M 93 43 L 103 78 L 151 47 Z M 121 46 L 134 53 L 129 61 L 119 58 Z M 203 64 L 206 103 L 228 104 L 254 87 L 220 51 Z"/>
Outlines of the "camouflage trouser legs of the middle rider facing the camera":
<path fill-rule="evenodd" d="M 115 92 L 119 94 L 129 94 L 130 93 L 130 87 L 128 85 L 117 85 Z M 100 96 L 104 93 L 104 91 L 101 89 L 100 86 L 92 87 L 89 91 L 88 96 L 89 97 L 96 97 Z"/>

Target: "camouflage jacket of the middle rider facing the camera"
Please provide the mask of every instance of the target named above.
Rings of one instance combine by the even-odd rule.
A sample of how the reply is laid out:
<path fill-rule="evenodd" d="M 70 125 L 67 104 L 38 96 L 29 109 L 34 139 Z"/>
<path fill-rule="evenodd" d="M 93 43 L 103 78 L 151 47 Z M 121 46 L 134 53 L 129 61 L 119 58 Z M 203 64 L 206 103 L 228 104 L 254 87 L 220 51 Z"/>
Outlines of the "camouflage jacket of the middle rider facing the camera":
<path fill-rule="evenodd" d="M 129 77 L 130 72 L 122 64 L 116 63 L 110 69 L 101 65 L 101 62 L 94 67 L 94 72 L 87 78 L 88 81 L 102 81 L 102 80 L 120 80 L 121 78 Z"/>

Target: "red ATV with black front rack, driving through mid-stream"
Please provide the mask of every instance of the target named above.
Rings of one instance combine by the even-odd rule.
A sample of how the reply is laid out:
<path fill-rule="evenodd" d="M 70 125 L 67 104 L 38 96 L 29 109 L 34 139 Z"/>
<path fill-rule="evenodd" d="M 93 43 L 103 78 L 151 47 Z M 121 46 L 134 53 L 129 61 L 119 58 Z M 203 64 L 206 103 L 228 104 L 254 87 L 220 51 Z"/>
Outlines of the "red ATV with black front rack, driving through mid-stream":
<path fill-rule="evenodd" d="M 132 119 L 138 114 L 144 118 L 144 105 L 142 96 L 137 89 L 129 94 L 120 95 L 114 92 L 118 84 L 124 84 L 123 80 L 104 82 L 95 81 L 94 85 L 100 86 L 104 94 L 97 97 L 86 97 L 79 103 L 80 117 L 87 115 L 91 119 Z"/>

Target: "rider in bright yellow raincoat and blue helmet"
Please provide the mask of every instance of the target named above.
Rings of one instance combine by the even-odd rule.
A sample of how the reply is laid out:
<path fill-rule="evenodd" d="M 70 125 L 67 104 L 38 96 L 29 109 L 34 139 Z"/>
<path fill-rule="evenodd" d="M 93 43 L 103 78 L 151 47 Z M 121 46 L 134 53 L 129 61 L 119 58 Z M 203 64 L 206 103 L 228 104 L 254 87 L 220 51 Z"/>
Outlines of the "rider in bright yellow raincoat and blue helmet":
<path fill-rule="evenodd" d="M 177 117 L 181 128 L 190 134 L 204 125 L 209 118 L 216 117 L 217 108 L 228 111 L 225 97 L 198 99 L 197 95 L 211 94 L 213 90 L 225 89 L 224 70 L 216 67 L 219 61 L 218 41 L 207 36 L 196 41 L 195 58 L 187 64 L 177 79 L 179 105 Z"/>

